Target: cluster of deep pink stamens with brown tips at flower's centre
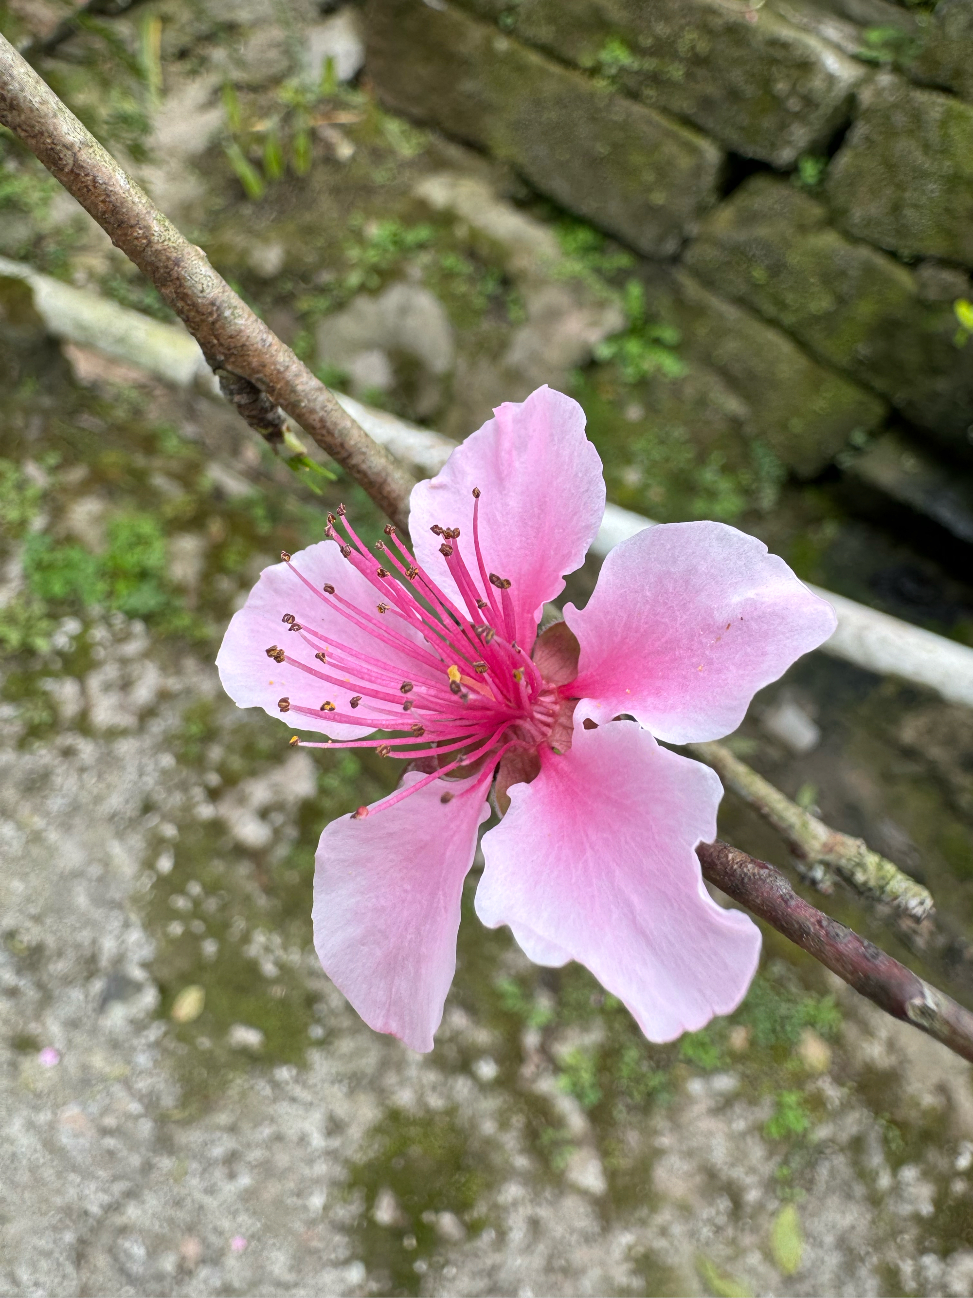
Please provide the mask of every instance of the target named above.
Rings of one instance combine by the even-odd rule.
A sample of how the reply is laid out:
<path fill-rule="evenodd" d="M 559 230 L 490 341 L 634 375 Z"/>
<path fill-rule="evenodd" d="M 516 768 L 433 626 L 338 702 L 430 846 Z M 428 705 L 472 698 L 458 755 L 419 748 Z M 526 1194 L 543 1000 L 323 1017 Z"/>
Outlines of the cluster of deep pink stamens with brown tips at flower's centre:
<path fill-rule="evenodd" d="M 323 601 L 332 614 L 374 639 L 374 653 L 352 648 L 293 614 L 283 622 L 297 649 L 271 645 L 266 653 L 288 662 L 320 685 L 353 691 L 349 711 L 331 700 L 318 706 L 282 698 L 284 713 L 370 727 L 383 737 L 326 740 L 309 744 L 294 736 L 292 745 L 307 748 L 374 748 L 381 757 L 419 765 L 427 772 L 387 798 L 388 807 L 444 775 L 479 775 L 481 788 L 509 750 L 533 750 L 547 741 L 562 709 L 557 687 L 546 683 L 537 665 L 516 643 L 516 617 L 510 580 L 490 572 L 483 558 L 479 533 L 480 492 L 474 489 L 474 535 L 470 563 L 459 544 L 458 527 L 436 524 L 440 554 L 459 592 L 454 602 L 416 563 L 390 524 L 388 540 L 378 541 L 379 559 L 368 552 L 348 522 L 344 505 L 328 514 L 326 539 L 340 546 L 344 558 L 374 587 L 375 611 L 345 598 L 327 584 L 320 591 L 282 554 L 294 576 Z M 341 535 L 344 531 L 344 536 Z M 330 619 L 332 620 L 332 619 Z M 333 624 L 333 622 L 332 622 Z M 289 636 L 288 636 L 289 640 Z M 394 650 L 389 661 L 388 650 Z M 409 676 L 402 678 L 402 662 Z M 444 801 L 453 794 L 444 793 Z M 367 809 L 359 807 L 361 819 Z"/>

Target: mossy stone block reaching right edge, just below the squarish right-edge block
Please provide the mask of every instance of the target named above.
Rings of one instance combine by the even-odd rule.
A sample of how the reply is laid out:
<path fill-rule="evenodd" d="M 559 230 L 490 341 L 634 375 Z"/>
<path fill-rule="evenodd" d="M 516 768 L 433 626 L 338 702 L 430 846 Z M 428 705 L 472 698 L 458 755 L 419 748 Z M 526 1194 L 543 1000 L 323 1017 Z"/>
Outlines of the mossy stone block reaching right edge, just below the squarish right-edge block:
<path fill-rule="evenodd" d="M 955 344 L 952 301 L 969 292 L 961 273 L 916 274 L 846 239 L 824 204 L 767 175 L 751 177 L 706 219 L 685 261 L 711 288 L 963 449 L 973 348 Z"/>

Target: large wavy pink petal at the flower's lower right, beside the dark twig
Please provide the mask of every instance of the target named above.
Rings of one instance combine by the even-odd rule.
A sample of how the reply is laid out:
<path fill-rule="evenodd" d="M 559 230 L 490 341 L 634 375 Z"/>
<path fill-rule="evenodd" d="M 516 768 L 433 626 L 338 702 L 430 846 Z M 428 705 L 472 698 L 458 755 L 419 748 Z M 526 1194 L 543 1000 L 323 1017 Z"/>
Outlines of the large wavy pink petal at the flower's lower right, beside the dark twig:
<path fill-rule="evenodd" d="M 697 1031 L 736 1009 L 760 954 L 760 931 L 710 898 L 695 857 L 720 794 L 708 767 L 633 722 L 579 727 L 484 836 L 476 912 L 527 931 L 525 950 L 533 935 L 541 955 L 580 961 L 651 1041 Z"/>

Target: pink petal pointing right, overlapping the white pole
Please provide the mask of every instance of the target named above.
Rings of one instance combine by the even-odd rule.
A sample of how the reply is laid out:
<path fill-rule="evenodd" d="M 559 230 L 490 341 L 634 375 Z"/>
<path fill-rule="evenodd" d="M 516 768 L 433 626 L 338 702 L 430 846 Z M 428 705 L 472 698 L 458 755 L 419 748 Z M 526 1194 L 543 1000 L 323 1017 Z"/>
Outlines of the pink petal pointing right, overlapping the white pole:
<path fill-rule="evenodd" d="M 725 523 L 666 523 L 623 541 L 564 619 L 581 644 L 576 716 L 631 713 L 671 744 L 734 731 L 755 692 L 837 626 L 784 559 Z"/>

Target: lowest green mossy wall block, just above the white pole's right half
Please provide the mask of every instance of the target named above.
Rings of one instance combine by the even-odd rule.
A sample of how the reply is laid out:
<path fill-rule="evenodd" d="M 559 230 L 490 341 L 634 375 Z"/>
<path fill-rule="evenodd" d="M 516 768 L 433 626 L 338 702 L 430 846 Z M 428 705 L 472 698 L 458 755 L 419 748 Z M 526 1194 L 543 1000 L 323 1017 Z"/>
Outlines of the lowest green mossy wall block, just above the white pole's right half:
<path fill-rule="evenodd" d="M 659 279 L 649 312 L 679 327 L 690 365 L 719 374 L 743 411 L 743 436 L 760 439 L 799 478 L 817 475 L 852 434 L 871 434 L 885 418 L 881 397 L 684 270 Z"/>

